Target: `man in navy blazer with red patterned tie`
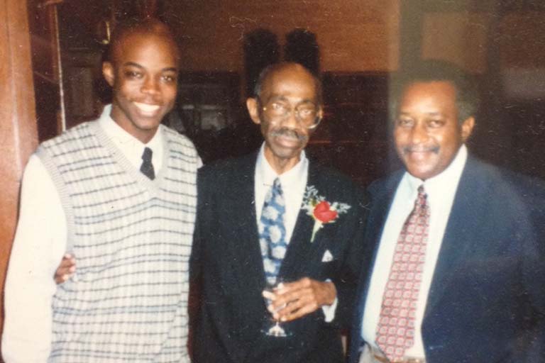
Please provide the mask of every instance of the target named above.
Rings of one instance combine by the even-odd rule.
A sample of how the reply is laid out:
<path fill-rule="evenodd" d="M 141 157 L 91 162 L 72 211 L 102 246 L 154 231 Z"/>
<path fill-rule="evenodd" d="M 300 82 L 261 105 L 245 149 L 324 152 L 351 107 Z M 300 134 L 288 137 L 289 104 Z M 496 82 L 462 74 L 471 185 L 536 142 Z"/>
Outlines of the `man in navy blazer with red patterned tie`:
<path fill-rule="evenodd" d="M 542 189 L 468 155 L 460 69 L 424 61 L 394 89 L 405 168 L 370 186 L 349 362 L 544 362 Z"/>

